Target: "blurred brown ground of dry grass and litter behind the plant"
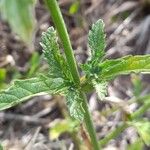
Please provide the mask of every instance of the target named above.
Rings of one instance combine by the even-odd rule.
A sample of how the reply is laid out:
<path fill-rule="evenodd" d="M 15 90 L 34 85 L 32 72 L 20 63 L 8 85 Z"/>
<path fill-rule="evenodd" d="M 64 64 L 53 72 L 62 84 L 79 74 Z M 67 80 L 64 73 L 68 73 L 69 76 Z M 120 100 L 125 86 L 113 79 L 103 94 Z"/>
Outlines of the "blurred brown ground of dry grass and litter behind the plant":
<path fill-rule="evenodd" d="M 105 22 L 107 58 L 118 58 L 128 54 L 149 54 L 150 3 L 148 1 L 80 0 L 78 12 L 70 14 L 69 8 L 73 1 L 59 0 L 77 62 L 85 62 L 89 55 L 87 34 L 92 23 L 99 18 Z M 32 54 L 42 53 L 39 45 L 41 33 L 53 25 L 42 1 L 37 2 L 36 18 L 34 48 L 26 46 L 12 32 L 9 24 L 0 18 L 0 68 L 6 69 L 7 72 L 4 81 L 6 85 L 3 86 L 9 85 L 14 78 L 26 78 L 30 70 Z M 41 58 L 38 71 L 45 68 L 47 66 Z M 34 73 L 31 76 L 34 76 Z M 135 96 L 135 78 L 142 87 L 140 95 L 148 94 L 149 75 L 128 75 L 118 77 L 109 84 L 108 101 L 99 101 L 95 92 L 88 95 L 89 108 L 100 139 L 120 124 L 124 110 L 127 111 L 124 104 Z M 115 99 L 119 99 L 123 105 L 118 104 Z M 64 119 L 64 111 L 66 112 L 64 102 L 61 96 L 44 95 L 0 112 L 2 145 L 6 150 L 74 149 L 73 139 L 69 134 L 64 133 L 57 140 L 52 140 L 49 136 L 49 130 L 54 122 L 58 120 L 61 122 Z M 119 107 L 118 111 L 109 113 L 114 105 Z M 138 107 L 135 102 L 128 109 L 133 112 Z M 145 113 L 144 117 L 150 119 L 150 112 Z M 130 127 L 115 140 L 111 140 L 105 149 L 125 150 L 127 144 L 134 143 L 137 138 L 135 129 Z M 149 148 L 145 146 L 145 149 Z"/>

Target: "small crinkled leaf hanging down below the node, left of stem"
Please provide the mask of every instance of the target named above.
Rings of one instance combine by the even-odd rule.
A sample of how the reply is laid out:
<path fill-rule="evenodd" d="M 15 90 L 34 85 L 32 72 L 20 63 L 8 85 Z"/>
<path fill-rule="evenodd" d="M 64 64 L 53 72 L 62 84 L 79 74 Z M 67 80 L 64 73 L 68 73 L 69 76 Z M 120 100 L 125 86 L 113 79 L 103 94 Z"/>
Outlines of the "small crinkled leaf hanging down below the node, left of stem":
<path fill-rule="evenodd" d="M 73 88 L 70 88 L 66 95 L 66 103 L 70 115 L 82 121 L 84 119 L 84 108 L 82 107 L 82 99 L 79 96 L 79 91 Z"/>

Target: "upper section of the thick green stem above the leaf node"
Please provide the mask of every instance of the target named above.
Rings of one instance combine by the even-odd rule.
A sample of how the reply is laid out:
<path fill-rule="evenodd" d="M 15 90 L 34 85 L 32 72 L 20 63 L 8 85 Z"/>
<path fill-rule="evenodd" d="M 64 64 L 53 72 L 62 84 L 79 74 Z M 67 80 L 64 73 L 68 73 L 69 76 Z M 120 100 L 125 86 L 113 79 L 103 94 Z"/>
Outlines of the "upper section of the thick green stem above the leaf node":
<path fill-rule="evenodd" d="M 53 22 L 55 24 L 55 27 L 58 31 L 61 42 L 63 44 L 67 63 L 70 67 L 70 71 L 72 73 L 72 76 L 73 76 L 74 80 L 76 81 L 76 83 L 79 84 L 80 83 L 79 73 L 77 70 L 77 65 L 76 65 L 76 61 L 74 58 L 73 49 L 71 46 L 69 35 L 67 32 L 65 22 L 63 20 L 60 8 L 58 6 L 58 3 L 56 0 L 44 0 L 44 1 L 45 1 L 46 6 L 48 7 L 48 9 L 51 13 L 51 17 L 52 17 Z"/>

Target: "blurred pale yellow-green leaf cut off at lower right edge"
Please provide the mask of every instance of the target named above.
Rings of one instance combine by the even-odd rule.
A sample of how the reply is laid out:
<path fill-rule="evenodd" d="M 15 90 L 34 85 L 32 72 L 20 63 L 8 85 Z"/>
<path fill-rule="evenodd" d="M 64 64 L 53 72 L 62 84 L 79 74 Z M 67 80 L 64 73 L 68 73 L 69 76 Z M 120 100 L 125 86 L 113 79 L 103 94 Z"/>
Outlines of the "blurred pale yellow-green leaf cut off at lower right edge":
<path fill-rule="evenodd" d="M 142 120 L 142 121 L 133 121 L 130 124 L 137 129 L 144 143 L 150 146 L 150 122 Z"/>

